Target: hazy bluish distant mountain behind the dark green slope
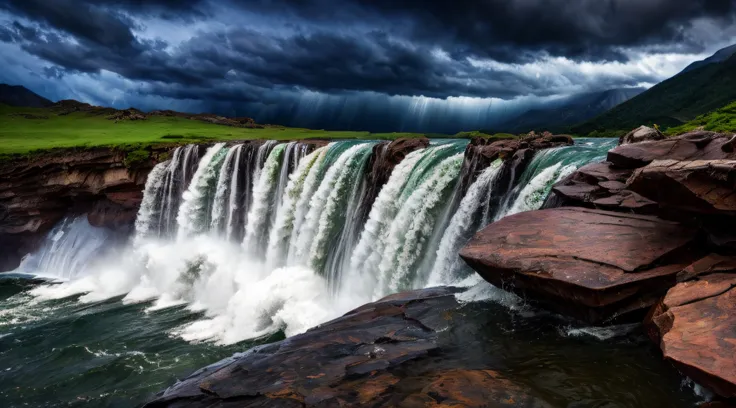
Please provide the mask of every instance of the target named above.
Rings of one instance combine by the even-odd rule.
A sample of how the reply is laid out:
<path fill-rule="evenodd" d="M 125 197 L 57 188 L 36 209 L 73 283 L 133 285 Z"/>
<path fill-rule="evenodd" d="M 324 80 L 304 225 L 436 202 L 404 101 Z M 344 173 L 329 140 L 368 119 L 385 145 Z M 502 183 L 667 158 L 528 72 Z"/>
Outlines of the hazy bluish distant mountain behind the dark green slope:
<path fill-rule="evenodd" d="M 549 107 L 528 110 L 496 128 L 509 133 L 526 133 L 531 130 L 564 131 L 572 125 L 585 122 L 628 101 L 645 90 L 646 88 L 620 88 L 573 95 Z"/>

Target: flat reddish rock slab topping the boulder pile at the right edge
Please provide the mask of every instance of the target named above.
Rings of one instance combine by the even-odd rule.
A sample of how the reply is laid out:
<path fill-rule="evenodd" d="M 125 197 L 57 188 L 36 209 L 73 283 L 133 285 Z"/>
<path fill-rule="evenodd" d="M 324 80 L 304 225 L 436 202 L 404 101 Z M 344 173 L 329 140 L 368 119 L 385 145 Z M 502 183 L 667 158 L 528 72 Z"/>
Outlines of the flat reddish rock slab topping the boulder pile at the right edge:
<path fill-rule="evenodd" d="M 608 161 L 621 169 L 637 169 L 655 160 L 736 160 L 733 135 L 698 131 L 659 141 L 616 147 Z"/>

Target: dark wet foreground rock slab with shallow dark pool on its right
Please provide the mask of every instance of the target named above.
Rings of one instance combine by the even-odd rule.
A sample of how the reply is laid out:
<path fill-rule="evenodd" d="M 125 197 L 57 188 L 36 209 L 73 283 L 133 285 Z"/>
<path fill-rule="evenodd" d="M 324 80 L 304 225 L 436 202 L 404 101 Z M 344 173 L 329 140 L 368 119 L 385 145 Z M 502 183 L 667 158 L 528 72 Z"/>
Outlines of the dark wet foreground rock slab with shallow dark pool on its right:
<path fill-rule="evenodd" d="M 605 343 L 570 337 L 560 332 L 564 322 L 544 314 L 522 318 L 458 295 L 467 293 L 434 288 L 389 296 L 202 369 L 146 406 L 694 405 L 644 336 Z"/>

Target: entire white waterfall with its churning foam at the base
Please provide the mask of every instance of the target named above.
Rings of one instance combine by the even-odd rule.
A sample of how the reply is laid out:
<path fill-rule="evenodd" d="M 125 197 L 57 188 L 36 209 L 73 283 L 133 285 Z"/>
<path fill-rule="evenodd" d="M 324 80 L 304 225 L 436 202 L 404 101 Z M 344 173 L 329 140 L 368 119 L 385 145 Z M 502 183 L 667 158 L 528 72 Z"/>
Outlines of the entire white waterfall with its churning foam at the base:
<path fill-rule="evenodd" d="M 462 184 L 465 140 L 408 153 L 383 185 L 368 185 L 385 153 L 377 141 L 314 151 L 305 142 L 218 143 L 201 157 L 198 146 L 181 146 L 149 174 L 120 258 L 93 262 L 107 232 L 80 218 L 57 226 L 23 268 L 69 280 L 34 290 L 42 299 L 124 295 L 150 302 L 150 312 L 186 304 L 203 313 L 173 333 L 189 341 L 291 335 L 389 293 L 457 283 L 468 273 L 457 252 L 474 232 L 537 208 L 556 180 L 612 143 L 542 151 L 515 185 L 498 188 L 511 161 Z"/>

